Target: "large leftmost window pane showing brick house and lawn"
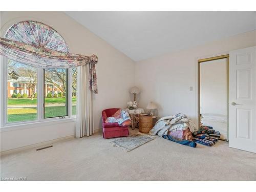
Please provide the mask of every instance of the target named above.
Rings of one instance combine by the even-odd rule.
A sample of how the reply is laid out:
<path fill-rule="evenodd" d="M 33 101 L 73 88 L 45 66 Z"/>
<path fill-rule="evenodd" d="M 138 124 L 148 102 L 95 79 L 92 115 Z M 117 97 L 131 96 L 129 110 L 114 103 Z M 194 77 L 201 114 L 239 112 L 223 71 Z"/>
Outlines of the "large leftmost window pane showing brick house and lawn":
<path fill-rule="evenodd" d="M 37 120 L 37 69 L 8 59 L 7 122 Z"/>

